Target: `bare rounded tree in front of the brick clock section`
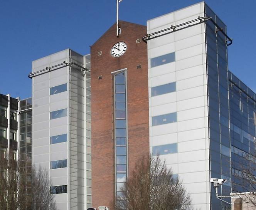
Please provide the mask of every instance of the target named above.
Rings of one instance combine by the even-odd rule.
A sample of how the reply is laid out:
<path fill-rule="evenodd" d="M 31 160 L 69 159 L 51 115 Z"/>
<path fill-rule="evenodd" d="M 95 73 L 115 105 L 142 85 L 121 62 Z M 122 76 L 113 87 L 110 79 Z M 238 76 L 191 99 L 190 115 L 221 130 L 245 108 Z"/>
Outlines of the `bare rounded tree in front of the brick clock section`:
<path fill-rule="evenodd" d="M 159 156 L 143 156 L 126 179 L 113 209 L 189 210 L 190 195 Z"/>

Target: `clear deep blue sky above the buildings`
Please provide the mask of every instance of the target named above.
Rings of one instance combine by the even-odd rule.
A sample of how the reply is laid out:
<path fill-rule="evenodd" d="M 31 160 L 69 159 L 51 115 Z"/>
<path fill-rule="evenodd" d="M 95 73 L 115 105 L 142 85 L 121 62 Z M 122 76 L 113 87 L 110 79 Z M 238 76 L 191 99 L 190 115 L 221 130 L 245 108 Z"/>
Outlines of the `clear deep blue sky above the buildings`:
<path fill-rule="evenodd" d="M 147 20 L 197 0 L 123 0 L 119 19 L 146 25 Z M 256 0 L 209 0 L 227 25 L 229 70 L 256 91 Z M 90 45 L 116 22 L 116 0 L 0 1 L 0 92 L 31 97 L 32 61 L 70 48 L 90 53 Z"/>

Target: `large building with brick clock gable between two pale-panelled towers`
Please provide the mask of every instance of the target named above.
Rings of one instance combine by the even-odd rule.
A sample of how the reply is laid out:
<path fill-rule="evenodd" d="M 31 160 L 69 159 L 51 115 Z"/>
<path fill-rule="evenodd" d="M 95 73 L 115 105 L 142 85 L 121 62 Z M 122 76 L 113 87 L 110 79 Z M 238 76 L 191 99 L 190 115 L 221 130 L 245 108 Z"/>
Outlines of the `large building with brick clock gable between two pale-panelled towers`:
<path fill-rule="evenodd" d="M 227 65 L 226 25 L 204 3 L 120 21 L 90 55 L 33 62 L 32 162 L 49 170 L 59 209 L 109 207 L 138 158 L 159 154 L 193 204 L 229 209 L 210 178 L 236 180 L 254 150 L 256 95 Z M 231 192 L 230 183 L 219 191 Z M 99 208 L 100 209 L 100 208 Z"/>

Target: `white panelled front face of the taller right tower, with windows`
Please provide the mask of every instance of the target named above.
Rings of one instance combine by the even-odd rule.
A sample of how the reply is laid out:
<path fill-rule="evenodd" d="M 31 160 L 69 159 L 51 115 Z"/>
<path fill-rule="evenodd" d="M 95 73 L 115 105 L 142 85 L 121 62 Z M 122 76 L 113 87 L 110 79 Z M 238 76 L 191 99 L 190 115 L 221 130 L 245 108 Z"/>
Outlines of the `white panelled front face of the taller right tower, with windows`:
<path fill-rule="evenodd" d="M 204 16 L 204 2 L 149 20 L 148 34 L 198 16 Z M 148 83 L 150 151 L 159 152 L 173 173 L 184 180 L 195 206 L 209 210 L 205 45 L 204 24 L 148 40 Z M 175 53 L 174 60 L 167 55 L 171 53 Z M 175 82 L 174 92 L 161 87 L 172 82 Z M 171 113 L 176 113 L 176 119 L 170 118 Z M 168 154 L 170 146 L 177 148 Z"/>

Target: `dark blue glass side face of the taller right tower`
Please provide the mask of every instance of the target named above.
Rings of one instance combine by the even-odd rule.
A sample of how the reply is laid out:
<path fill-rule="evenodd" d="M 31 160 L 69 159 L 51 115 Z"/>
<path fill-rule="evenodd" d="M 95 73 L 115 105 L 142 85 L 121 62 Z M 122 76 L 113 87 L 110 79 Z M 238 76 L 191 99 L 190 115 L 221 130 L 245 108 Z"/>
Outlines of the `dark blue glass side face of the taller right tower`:
<path fill-rule="evenodd" d="M 226 33 L 226 25 L 206 6 L 207 17 L 219 25 Z M 206 23 L 206 47 L 207 47 L 207 79 L 209 100 L 209 136 L 211 155 L 211 178 L 231 180 L 231 143 L 229 125 L 229 96 L 227 74 L 227 45 L 226 37 L 210 21 Z M 231 192 L 230 183 L 225 183 L 219 189 L 219 193 L 227 195 Z M 212 209 L 229 208 L 215 197 L 212 191 Z M 231 202 L 229 198 L 225 199 Z"/>

